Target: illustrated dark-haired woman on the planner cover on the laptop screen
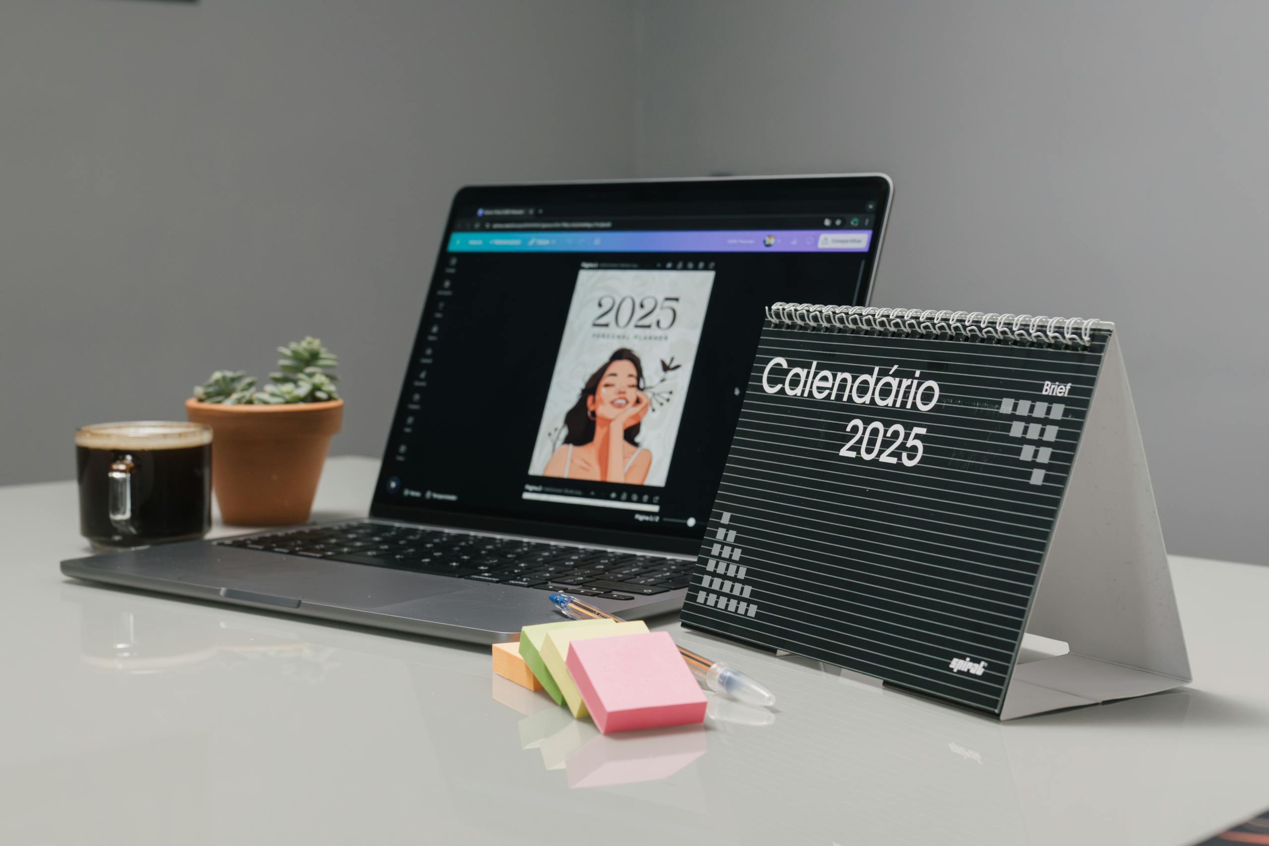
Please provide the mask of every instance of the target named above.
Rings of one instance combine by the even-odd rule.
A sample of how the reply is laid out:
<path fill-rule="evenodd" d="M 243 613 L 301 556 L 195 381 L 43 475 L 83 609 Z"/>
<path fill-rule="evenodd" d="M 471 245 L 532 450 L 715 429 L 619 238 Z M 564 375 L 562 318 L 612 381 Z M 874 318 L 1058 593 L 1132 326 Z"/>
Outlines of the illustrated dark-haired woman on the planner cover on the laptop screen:
<path fill-rule="evenodd" d="M 642 485 L 652 453 L 638 445 L 638 429 L 651 406 L 638 355 L 617 350 L 563 416 L 567 434 L 542 474 Z"/>

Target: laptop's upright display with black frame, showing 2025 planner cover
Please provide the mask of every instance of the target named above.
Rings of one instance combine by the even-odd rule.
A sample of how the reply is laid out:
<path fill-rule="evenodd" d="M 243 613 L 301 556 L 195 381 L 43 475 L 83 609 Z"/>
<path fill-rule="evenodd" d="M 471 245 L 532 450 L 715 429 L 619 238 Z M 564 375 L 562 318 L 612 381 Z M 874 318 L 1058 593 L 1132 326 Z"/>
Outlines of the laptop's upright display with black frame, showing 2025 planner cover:
<path fill-rule="evenodd" d="M 867 303 L 888 205 L 884 176 L 461 190 L 372 514 L 693 552 L 763 308 Z"/>

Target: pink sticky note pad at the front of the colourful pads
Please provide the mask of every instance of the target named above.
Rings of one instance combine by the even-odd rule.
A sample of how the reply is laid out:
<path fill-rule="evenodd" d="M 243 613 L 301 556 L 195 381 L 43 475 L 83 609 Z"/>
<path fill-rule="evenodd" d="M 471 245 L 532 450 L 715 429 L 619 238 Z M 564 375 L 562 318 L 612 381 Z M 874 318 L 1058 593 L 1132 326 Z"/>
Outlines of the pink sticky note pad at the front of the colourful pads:
<path fill-rule="evenodd" d="M 704 722 L 706 695 L 665 632 L 574 641 L 565 665 L 605 734 Z"/>

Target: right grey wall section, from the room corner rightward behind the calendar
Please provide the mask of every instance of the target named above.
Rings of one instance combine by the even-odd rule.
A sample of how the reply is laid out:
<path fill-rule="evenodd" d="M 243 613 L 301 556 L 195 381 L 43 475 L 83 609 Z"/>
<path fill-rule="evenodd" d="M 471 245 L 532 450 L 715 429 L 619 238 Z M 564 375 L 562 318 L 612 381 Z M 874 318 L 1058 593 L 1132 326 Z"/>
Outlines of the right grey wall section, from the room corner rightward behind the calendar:
<path fill-rule="evenodd" d="M 1266 32 L 1264 3 L 654 3 L 637 169 L 890 172 L 874 304 L 1117 321 L 1169 549 L 1264 563 Z"/>

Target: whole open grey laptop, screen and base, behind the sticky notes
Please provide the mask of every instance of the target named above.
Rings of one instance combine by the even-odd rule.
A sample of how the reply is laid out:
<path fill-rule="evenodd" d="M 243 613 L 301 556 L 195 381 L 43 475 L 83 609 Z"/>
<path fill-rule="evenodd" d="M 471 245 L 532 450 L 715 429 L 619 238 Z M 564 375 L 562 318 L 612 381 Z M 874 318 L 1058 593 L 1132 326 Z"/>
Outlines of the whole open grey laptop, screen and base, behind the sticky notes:
<path fill-rule="evenodd" d="M 882 174 L 463 188 L 369 517 L 62 572 L 475 643 L 561 619 L 556 591 L 678 610 L 763 307 L 867 304 L 891 194 Z"/>

